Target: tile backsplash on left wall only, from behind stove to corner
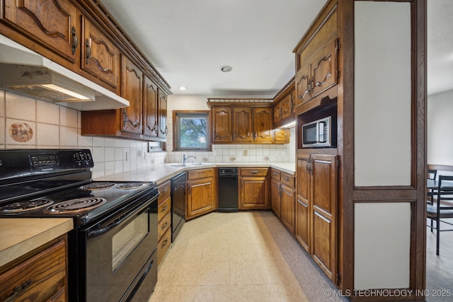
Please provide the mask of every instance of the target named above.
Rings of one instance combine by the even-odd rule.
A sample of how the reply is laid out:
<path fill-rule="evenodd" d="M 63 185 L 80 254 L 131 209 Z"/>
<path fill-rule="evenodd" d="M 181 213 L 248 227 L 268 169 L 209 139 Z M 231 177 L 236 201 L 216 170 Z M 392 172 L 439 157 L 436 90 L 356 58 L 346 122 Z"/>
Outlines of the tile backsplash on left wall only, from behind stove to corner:
<path fill-rule="evenodd" d="M 0 89 L 0 149 L 90 149 L 93 178 L 164 163 L 144 141 L 81 136 L 81 112 Z"/>

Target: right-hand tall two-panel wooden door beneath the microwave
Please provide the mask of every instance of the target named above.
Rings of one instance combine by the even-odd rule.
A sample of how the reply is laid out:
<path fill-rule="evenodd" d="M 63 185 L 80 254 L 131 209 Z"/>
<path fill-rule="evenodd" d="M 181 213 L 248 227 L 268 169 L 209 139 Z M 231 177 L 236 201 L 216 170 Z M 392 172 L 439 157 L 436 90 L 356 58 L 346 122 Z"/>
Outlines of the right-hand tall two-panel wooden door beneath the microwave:
<path fill-rule="evenodd" d="M 311 155 L 312 254 L 330 279 L 336 274 L 336 156 Z"/>

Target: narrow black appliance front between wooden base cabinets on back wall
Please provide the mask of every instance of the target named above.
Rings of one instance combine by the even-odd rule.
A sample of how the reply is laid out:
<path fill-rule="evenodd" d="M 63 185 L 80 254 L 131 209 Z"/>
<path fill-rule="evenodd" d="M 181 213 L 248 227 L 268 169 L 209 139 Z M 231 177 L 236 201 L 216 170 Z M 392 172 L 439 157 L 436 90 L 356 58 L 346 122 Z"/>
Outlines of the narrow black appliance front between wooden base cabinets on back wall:
<path fill-rule="evenodd" d="M 238 168 L 219 168 L 218 211 L 238 211 Z"/>

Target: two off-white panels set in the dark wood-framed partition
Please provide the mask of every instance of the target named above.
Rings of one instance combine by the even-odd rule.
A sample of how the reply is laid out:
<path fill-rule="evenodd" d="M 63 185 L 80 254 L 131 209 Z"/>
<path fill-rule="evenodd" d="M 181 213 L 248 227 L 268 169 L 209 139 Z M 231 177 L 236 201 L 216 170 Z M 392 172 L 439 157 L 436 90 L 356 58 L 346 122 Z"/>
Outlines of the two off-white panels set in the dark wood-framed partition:
<path fill-rule="evenodd" d="M 355 1 L 354 106 L 355 185 L 411 185 L 409 3 Z M 410 204 L 356 203 L 354 217 L 354 289 L 407 288 Z"/>

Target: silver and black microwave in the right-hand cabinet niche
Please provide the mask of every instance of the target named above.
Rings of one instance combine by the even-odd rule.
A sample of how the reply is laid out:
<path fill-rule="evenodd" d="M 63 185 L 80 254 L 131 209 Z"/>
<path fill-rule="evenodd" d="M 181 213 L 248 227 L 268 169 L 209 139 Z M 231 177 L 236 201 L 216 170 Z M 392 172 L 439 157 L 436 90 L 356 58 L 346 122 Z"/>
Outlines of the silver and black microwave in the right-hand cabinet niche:
<path fill-rule="evenodd" d="M 333 141 L 332 124 L 332 117 L 302 124 L 302 148 L 326 148 L 336 144 Z"/>

